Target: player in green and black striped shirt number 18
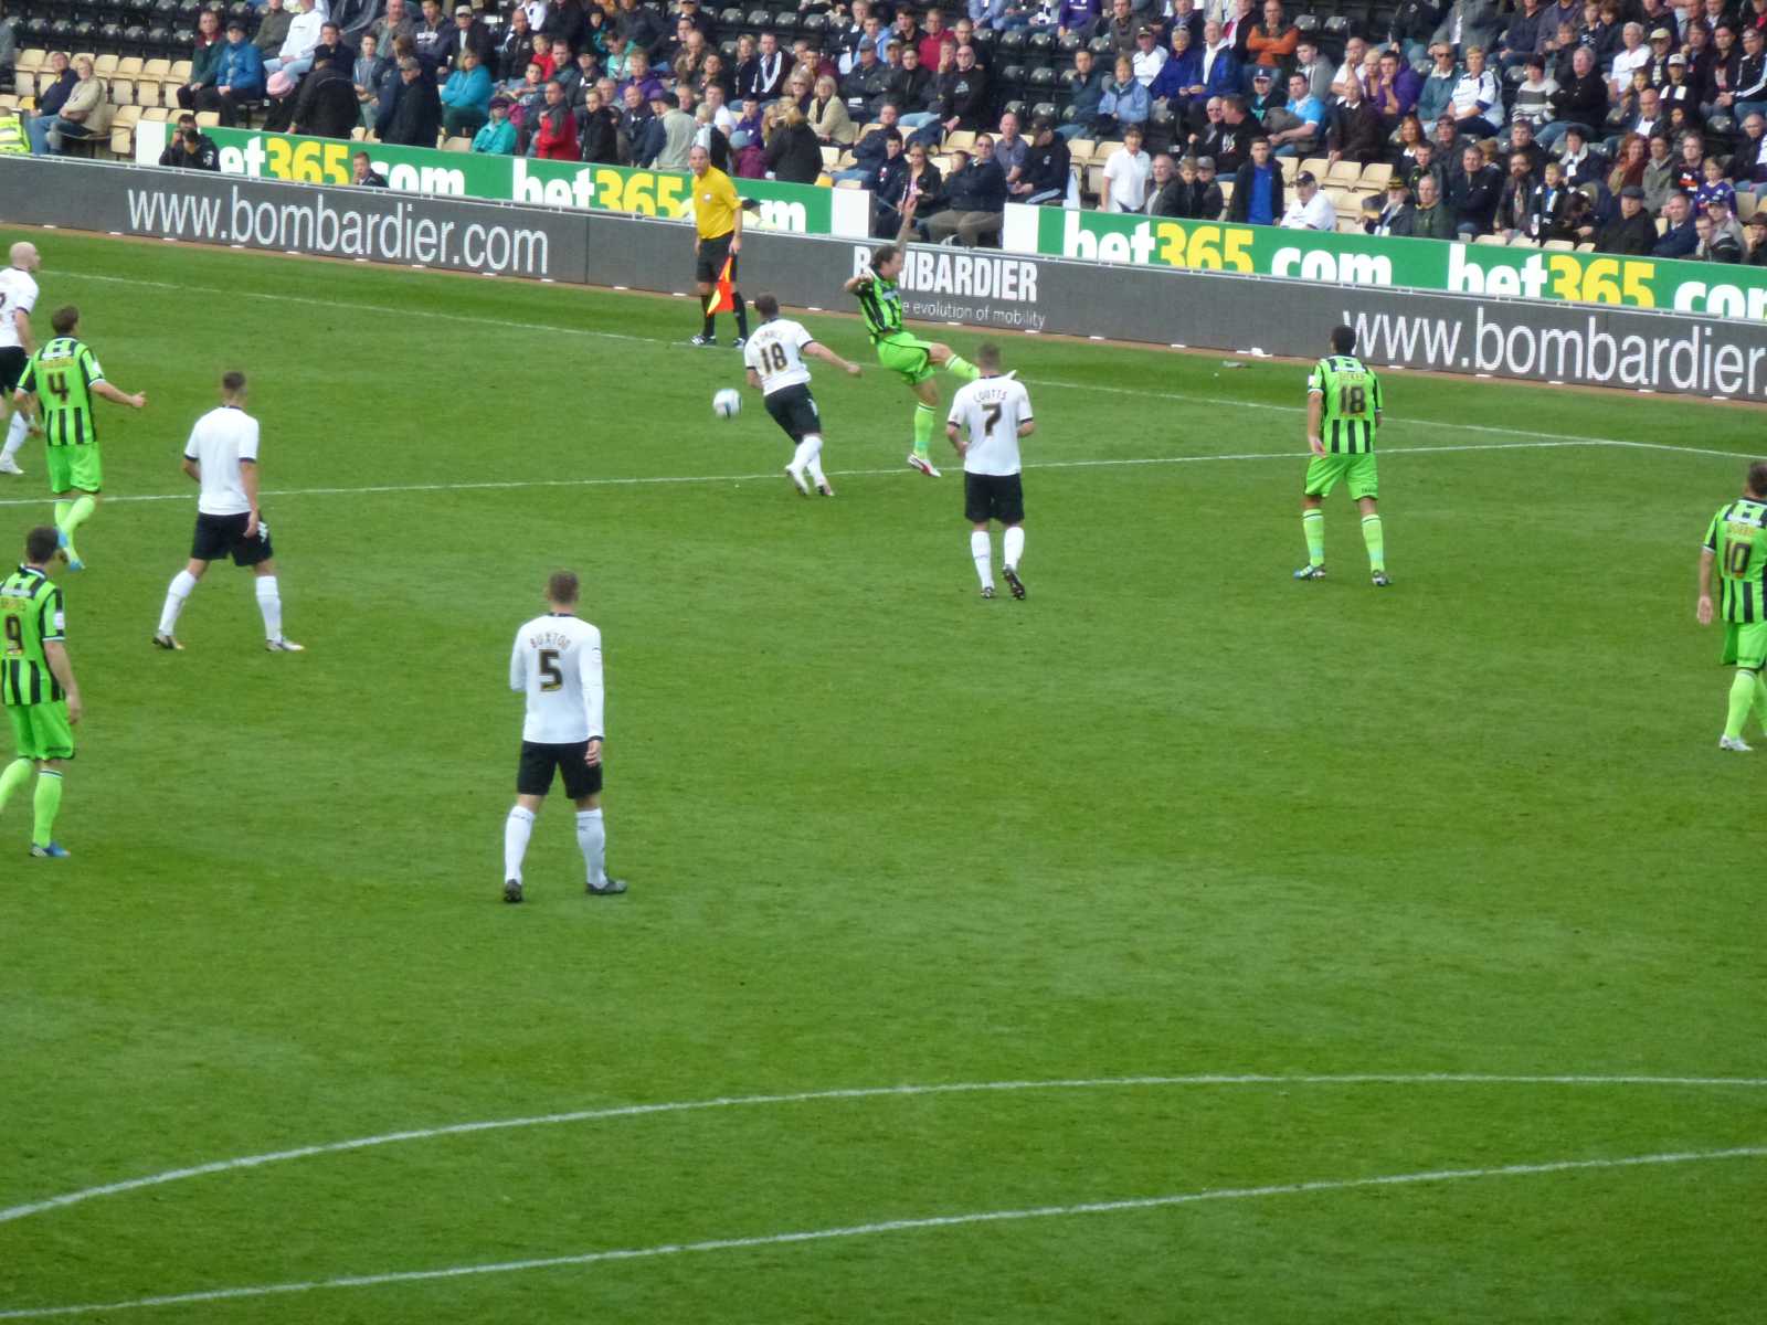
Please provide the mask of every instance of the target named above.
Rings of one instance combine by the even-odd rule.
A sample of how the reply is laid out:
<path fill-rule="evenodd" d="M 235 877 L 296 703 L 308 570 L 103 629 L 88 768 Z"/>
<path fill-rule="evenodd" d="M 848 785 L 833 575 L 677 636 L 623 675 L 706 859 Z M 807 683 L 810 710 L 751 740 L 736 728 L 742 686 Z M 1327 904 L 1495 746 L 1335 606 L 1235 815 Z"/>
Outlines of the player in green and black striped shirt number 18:
<path fill-rule="evenodd" d="M 1301 528 L 1308 535 L 1308 564 L 1295 579 L 1325 578 L 1325 498 L 1339 481 L 1362 507 L 1362 542 L 1375 588 L 1385 588 L 1387 544 L 1375 511 L 1380 481 L 1375 473 L 1375 431 L 1380 428 L 1380 378 L 1355 357 L 1355 332 L 1332 327 L 1331 355 L 1308 376 L 1308 479 L 1301 489 Z"/>

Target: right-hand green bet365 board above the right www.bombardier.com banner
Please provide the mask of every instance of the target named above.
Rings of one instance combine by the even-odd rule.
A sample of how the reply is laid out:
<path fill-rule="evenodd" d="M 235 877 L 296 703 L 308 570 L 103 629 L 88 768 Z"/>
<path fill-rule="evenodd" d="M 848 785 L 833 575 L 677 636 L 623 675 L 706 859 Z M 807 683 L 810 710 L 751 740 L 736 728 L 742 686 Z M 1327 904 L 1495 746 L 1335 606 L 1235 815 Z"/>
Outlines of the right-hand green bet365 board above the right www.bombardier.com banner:
<path fill-rule="evenodd" d="M 1767 269 L 1732 263 L 1327 235 L 1018 203 L 1007 205 L 1004 246 L 1051 258 L 1285 276 L 1315 284 L 1410 286 L 1767 320 Z"/>

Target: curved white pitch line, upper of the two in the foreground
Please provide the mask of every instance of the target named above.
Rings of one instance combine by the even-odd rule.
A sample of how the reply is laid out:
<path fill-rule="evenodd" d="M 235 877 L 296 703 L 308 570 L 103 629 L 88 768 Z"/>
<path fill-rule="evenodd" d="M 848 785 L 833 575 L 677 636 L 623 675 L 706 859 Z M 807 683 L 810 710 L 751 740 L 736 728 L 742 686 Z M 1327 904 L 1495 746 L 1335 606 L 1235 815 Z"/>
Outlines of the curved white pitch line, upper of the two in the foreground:
<path fill-rule="evenodd" d="M 783 1095 L 719 1095 L 714 1099 L 666 1101 L 661 1104 L 618 1104 L 603 1109 L 573 1109 L 569 1113 L 542 1113 L 525 1118 L 489 1118 L 484 1122 L 454 1122 L 440 1127 L 413 1127 L 399 1132 L 380 1132 L 376 1136 L 357 1136 L 348 1141 L 322 1141 L 316 1145 L 293 1147 L 290 1150 L 269 1150 L 237 1159 L 214 1159 L 207 1164 L 166 1170 L 140 1178 L 106 1182 L 99 1187 L 46 1196 L 39 1201 L 14 1205 L 0 1210 L 0 1224 L 18 1219 L 80 1205 L 99 1196 L 122 1196 L 143 1187 L 163 1187 L 168 1182 L 209 1177 L 212 1173 L 231 1173 L 246 1168 L 262 1168 L 292 1159 L 313 1159 L 316 1155 L 337 1155 L 353 1150 L 371 1150 L 399 1141 L 433 1141 L 442 1136 L 466 1136 L 474 1132 L 514 1131 L 521 1127 L 557 1127 L 573 1122 L 601 1122 L 606 1118 L 638 1118 L 657 1113 L 696 1113 L 703 1109 L 763 1108 L 770 1104 L 811 1104 L 816 1101 L 848 1099 L 889 1099 L 914 1095 L 968 1095 L 984 1092 L 1020 1092 L 1020 1090 L 1120 1090 L 1131 1086 L 1665 1086 L 1665 1088 L 1767 1088 L 1767 1078 L 1735 1076 L 1493 1076 L 1479 1072 L 1350 1072 L 1350 1074 L 1313 1074 L 1313 1076 L 1269 1076 L 1260 1072 L 1240 1074 L 1193 1074 L 1193 1076 L 1104 1076 L 1104 1078 L 1067 1078 L 1057 1081 L 949 1081 L 942 1085 L 903 1085 L 903 1086 L 848 1086 L 839 1090 L 800 1090 Z"/>

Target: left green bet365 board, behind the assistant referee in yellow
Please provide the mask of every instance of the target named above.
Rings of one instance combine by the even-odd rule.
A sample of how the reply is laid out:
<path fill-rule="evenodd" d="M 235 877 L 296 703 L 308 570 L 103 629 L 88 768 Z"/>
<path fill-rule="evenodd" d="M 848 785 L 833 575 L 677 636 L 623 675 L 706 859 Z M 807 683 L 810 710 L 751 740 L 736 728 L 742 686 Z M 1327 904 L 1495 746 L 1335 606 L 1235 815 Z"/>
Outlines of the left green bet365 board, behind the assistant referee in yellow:
<path fill-rule="evenodd" d="M 154 132 L 161 129 L 161 132 Z M 136 164 L 159 163 L 164 125 L 136 127 Z M 209 129 L 221 148 L 221 173 L 293 184 L 348 184 L 350 157 L 368 152 L 375 170 L 398 193 L 484 198 L 534 207 L 576 207 L 597 212 L 680 217 L 693 198 L 693 175 L 673 170 L 627 170 L 573 161 L 539 161 L 481 152 L 269 134 L 249 129 Z M 871 233 L 869 194 L 862 189 L 820 189 L 811 184 L 737 180 L 746 198 L 760 201 L 760 226 L 797 235 Z"/>

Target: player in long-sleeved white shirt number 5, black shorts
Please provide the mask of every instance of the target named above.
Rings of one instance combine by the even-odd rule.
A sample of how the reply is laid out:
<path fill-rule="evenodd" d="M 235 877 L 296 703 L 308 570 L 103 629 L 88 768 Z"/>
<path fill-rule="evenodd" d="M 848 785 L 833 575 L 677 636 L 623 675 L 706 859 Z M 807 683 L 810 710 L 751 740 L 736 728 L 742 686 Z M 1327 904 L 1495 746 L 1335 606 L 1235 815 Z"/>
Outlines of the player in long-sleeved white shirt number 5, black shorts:
<path fill-rule="evenodd" d="M 516 806 L 504 822 L 504 901 L 521 901 L 521 857 L 555 772 L 564 774 L 564 791 L 576 802 L 576 844 L 588 894 L 626 892 L 624 880 L 608 878 L 608 829 L 601 820 L 601 631 L 576 615 L 578 594 L 576 572 L 555 571 L 546 581 L 546 615 L 516 631 L 509 655 L 509 689 L 528 696 L 528 712 Z"/>

